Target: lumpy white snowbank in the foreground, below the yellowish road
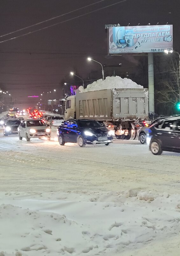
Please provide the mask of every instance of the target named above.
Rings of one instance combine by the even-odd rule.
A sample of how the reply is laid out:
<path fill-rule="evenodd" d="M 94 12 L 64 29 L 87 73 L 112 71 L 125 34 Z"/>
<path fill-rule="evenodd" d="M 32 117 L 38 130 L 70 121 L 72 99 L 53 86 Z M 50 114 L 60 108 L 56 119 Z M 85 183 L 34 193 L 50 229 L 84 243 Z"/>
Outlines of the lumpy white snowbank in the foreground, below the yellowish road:
<path fill-rule="evenodd" d="M 179 194 L 129 190 L 0 198 L 1 256 L 120 255 L 180 232 Z"/>

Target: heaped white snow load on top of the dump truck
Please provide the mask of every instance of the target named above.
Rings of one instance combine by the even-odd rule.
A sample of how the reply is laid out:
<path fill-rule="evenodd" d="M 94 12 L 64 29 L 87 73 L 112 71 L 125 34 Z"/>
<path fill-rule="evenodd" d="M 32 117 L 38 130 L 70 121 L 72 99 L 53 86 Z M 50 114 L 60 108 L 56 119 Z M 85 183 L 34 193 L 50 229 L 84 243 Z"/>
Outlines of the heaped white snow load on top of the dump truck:
<path fill-rule="evenodd" d="M 120 76 L 107 76 L 104 81 L 99 79 L 91 84 L 88 84 L 86 89 L 84 89 L 83 86 L 79 87 L 80 92 L 99 91 L 103 89 L 143 89 L 143 86 L 128 78 L 121 78 Z"/>

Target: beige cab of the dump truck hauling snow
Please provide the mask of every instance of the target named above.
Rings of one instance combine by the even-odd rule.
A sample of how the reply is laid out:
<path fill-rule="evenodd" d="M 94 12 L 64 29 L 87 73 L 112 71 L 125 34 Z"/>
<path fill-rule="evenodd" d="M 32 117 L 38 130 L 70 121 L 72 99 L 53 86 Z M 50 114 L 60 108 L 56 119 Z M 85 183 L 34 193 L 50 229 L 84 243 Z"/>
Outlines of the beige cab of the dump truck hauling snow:
<path fill-rule="evenodd" d="M 69 96 L 66 98 L 65 105 L 65 120 L 70 118 L 76 118 L 76 97 L 75 95 Z"/>

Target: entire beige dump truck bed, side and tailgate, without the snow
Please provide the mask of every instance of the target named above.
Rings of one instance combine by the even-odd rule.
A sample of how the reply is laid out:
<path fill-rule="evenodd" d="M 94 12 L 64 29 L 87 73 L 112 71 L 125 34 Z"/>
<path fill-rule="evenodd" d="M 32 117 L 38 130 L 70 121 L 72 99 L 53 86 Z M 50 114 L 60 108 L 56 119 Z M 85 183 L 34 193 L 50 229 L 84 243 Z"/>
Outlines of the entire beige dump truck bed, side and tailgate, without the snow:
<path fill-rule="evenodd" d="M 148 117 L 148 89 L 76 91 L 76 118 L 98 121 Z"/>

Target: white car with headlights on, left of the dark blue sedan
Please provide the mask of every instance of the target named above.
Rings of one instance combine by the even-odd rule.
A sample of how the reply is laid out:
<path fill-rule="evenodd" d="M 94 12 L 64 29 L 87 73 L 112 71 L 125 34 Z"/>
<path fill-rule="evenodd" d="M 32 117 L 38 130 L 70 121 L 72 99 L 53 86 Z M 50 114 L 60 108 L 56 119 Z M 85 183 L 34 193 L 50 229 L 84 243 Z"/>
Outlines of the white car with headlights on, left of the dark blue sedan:
<path fill-rule="evenodd" d="M 24 120 L 18 127 L 19 139 L 26 138 L 30 141 L 31 138 L 43 138 L 51 139 L 51 130 L 48 128 L 42 120 L 29 119 Z"/>

